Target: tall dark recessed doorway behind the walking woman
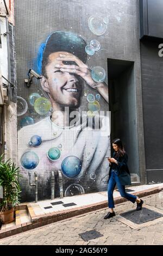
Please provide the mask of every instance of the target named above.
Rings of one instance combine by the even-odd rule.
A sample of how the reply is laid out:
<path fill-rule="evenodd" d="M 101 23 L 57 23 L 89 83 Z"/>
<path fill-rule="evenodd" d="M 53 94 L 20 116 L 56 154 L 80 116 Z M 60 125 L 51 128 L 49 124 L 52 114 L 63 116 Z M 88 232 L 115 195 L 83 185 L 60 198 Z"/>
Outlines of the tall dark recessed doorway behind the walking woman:
<path fill-rule="evenodd" d="M 108 59 L 111 141 L 121 138 L 128 153 L 131 181 L 139 182 L 134 62 Z"/>

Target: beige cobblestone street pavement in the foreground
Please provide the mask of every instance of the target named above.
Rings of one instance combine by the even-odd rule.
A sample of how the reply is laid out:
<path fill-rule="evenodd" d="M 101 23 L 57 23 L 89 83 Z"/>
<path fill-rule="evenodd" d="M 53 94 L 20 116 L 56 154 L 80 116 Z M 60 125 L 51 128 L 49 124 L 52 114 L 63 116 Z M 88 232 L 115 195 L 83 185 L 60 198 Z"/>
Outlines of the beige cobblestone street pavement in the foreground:
<path fill-rule="evenodd" d="M 163 210 L 163 191 L 143 198 Z M 130 202 L 116 205 L 116 215 L 135 208 Z M 163 245 L 163 221 L 135 230 L 115 218 L 104 220 L 108 209 L 26 231 L 0 240 L 0 245 Z M 96 229 L 103 236 L 85 242 L 80 233 Z"/>

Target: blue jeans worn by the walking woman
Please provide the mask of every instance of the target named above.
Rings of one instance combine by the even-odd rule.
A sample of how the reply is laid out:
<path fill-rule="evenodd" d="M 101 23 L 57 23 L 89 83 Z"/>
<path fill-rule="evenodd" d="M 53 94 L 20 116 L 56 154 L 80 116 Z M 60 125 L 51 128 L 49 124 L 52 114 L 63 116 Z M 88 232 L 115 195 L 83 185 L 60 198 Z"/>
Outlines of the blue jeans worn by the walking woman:
<path fill-rule="evenodd" d="M 115 208 L 114 206 L 114 199 L 113 199 L 113 191 L 115 188 L 115 185 L 117 184 L 118 190 L 121 194 L 121 197 L 125 197 L 132 203 L 135 203 L 136 196 L 133 194 L 126 193 L 125 186 L 121 185 L 120 179 L 118 178 L 118 171 L 117 170 L 111 170 L 111 176 L 108 182 L 108 202 L 109 202 L 109 208 Z"/>

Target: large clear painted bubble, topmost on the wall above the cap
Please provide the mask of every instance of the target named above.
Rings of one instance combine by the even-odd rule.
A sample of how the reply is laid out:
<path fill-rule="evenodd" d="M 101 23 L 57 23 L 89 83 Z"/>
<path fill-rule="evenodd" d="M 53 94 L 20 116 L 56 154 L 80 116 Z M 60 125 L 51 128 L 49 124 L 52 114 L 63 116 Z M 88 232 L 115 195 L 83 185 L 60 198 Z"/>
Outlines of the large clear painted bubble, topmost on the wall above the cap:
<path fill-rule="evenodd" d="M 88 26 L 90 31 L 95 35 L 103 35 L 106 32 L 107 25 L 103 20 L 103 17 L 92 15 L 88 20 Z"/>

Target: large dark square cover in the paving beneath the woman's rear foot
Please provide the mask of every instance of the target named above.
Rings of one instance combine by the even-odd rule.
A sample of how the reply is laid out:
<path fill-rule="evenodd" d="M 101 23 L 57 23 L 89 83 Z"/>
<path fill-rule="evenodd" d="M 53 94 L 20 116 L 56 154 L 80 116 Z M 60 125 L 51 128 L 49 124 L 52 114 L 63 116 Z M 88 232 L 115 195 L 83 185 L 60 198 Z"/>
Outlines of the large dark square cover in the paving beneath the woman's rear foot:
<path fill-rule="evenodd" d="M 140 211 L 131 210 L 120 215 L 135 224 L 142 224 L 148 221 L 153 221 L 156 218 L 163 216 L 159 212 L 147 208 L 142 208 Z"/>

